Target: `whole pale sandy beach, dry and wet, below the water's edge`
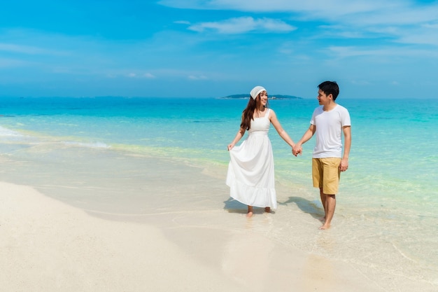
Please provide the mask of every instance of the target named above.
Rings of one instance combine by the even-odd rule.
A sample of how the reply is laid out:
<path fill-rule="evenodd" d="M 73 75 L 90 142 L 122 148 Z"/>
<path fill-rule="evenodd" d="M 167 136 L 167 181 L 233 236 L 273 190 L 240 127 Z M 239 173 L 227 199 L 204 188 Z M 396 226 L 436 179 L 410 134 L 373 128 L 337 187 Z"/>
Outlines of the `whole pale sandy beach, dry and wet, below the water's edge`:
<path fill-rule="evenodd" d="M 360 249 L 344 244 L 341 204 L 318 230 L 320 210 L 296 188 L 278 185 L 278 209 L 248 219 L 224 166 L 34 149 L 0 157 L 1 291 L 435 291 L 363 265 L 372 253 L 337 257 Z"/>

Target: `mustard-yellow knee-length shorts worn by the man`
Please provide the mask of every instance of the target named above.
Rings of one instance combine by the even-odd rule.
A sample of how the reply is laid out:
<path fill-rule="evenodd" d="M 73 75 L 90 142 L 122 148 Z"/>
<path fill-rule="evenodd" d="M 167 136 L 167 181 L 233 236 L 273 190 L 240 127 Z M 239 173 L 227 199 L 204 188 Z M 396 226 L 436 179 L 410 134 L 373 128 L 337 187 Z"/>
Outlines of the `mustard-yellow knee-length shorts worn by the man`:
<path fill-rule="evenodd" d="M 325 195 L 338 193 L 341 158 L 312 158 L 313 186 L 322 188 Z"/>

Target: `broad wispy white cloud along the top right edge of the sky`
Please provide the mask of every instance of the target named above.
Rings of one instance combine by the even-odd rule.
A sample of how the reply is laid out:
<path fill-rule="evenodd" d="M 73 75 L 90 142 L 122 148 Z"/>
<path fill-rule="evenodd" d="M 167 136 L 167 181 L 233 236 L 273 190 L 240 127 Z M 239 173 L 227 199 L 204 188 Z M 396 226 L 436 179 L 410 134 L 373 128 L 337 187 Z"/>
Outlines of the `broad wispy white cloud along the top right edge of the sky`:
<path fill-rule="evenodd" d="M 297 20 L 323 20 L 349 25 L 418 25 L 437 20 L 438 4 L 410 0 L 162 0 L 163 6 L 252 13 L 291 13 Z"/>

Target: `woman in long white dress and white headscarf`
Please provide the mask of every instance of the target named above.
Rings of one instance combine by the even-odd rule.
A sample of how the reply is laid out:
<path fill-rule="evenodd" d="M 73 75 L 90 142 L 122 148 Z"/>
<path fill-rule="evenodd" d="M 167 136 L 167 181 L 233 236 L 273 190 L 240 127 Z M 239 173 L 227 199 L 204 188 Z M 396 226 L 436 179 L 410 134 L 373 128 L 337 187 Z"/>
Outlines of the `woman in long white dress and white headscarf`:
<path fill-rule="evenodd" d="M 248 205 L 247 217 L 253 216 L 253 207 L 264 207 L 270 212 L 276 209 L 274 187 L 274 156 L 268 131 L 274 125 L 280 137 L 294 147 L 295 143 L 283 130 L 275 112 L 269 109 L 268 94 L 262 86 L 255 86 L 243 111 L 240 130 L 228 145 L 230 161 L 227 186 L 234 200 Z M 248 137 L 240 146 L 235 146 L 248 130 Z"/>

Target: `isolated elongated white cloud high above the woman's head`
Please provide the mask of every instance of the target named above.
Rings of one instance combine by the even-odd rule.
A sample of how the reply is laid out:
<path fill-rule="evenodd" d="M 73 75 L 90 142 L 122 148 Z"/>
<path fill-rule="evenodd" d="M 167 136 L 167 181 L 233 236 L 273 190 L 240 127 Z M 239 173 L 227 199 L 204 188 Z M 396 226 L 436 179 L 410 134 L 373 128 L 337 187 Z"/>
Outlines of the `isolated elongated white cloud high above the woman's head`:
<path fill-rule="evenodd" d="M 195 32 L 213 30 L 219 34 L 243 34 L 246 32 L 291 32 L 296 29 L 281 20 L 269 18 L 230 18 L 220 22 L 201 22 L 188 29 Z"/>

